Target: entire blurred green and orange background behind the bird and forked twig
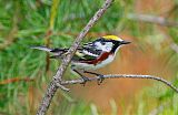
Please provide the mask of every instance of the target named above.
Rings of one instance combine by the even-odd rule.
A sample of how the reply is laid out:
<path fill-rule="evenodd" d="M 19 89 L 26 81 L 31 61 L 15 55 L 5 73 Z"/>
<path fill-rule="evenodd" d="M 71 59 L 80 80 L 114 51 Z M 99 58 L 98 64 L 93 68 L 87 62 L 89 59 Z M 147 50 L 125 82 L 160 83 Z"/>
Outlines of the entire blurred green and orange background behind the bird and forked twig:
<path fill-rule="evenodd" d="M 32 45 L 68 48 L 103 0 L 0 0 L 0 115 L 34 115 L 60 61 Z M 97 72 L 150 74 L 178 86 L 178 0 L 115 0 L 83 42 L 131 41 Z M 65 79 L 75 79 L 70 69 Z M 58 90 L 48 115 L 178 115 L 178 94 L 151 80 Z"/>

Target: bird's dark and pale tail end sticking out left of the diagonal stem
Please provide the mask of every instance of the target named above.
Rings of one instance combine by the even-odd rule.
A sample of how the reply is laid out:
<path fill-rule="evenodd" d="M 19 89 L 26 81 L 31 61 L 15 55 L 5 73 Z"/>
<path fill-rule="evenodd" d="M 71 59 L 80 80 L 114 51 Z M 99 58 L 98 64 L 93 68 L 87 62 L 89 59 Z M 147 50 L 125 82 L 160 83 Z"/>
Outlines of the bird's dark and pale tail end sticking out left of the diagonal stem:
<path fill-rule="evenodd" d="M 37 50 L 52 53 L 53 55 L 50 56 L 51 59 L 61 58 L 68 51 L 68 49 L 50 49 L 47 46 L 31 46 L 31 49 L 37 49 Z"/>

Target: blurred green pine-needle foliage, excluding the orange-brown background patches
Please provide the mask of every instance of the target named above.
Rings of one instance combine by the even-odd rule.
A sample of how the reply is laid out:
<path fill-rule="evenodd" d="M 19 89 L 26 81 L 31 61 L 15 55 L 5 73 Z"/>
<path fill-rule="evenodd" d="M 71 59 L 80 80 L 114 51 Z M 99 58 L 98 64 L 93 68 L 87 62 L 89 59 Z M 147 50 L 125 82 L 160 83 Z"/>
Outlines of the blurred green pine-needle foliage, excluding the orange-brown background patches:
<path fill-rule="evenodd" d="M 155 49 L 160 45 L 160 41 L 166 42 L 161 39 L 162 33 L 158 31 L 155 24 L 145 23 L 145 28 L 141 29 L 139 22 L 127 18 L 127 14 L 135 13 L 135 0 L 115 0 L 112 7 L 90 30 L 90 33 L 96 33 L 92 38 L 107 33 L 118 34 L 125 31 L 135 38 L 142 38 L 136 39 L 140 44 L 145 43 L 147 38 L 156 38 L 154 42 L 150 40 L 150 44 Z M 177 0 L 172 2 L 178 6 Z M 57 17 L 55 18 L 52 35 L 50 35 L 50 45 L 70 46 L 76 35 L 102 3 L 103 0 L 60 0 L 58 9 L 55 10 Z M 44 45 L 46 33 L 50 28 L 51 7 L 52 0 L 0 0 L 0 81 L 13 77 L 33 79 L 32 82 L 0 85 L 0 114 L 2 115 L 34 114 L 41 96 L 46 92 L 44 87 L 51 80 L 49 76 L 52 76 L 59 65 L 58 61 L 51 61 L 50 72 L 47 74 L 44 69 L 46 53 L 29 49 L 31 45 Z M 176 9 L 174 12 L 178 12 L 178 10 Z M 178 13 L 172 13 L 168 19 L 178 21 Z M 178 45 L 178 28 L 167 28 L 166 34 L 170 38 L 170 44 Z M 90 38 L 88 35 L 85 41 Z M 145 48 L 141 49 L 145 50 Z M 178 53 L 170 48 L 161 49 L 161 52 L 170 55 L 168 64 L 178 69 Z M 172 76 L 175 85 L 178 84 L 177 74 Z M 161 90 L 157 87 L 161 87 Z M 39 101 L 32 101 L 34 104 L 31 104 L 30 94 L 33 90 L 36 92 L 33 96 L 37 96 Z M 72 94 L 59 92 L 57 95 L 48 114 L 98 115 L 102 113 L 92 103 L 75 101 Z M 151 102 L 155 103 L 155 108 L 162 104 L 167 106 L 159 115 L 178 114 L 178 94 L 162 84 L 155 84 L 154 88 L 144 88 L 138 95 L 132 114 L 148 114 L 152 108 Z M 111 114 L 116 115 L 115 102 L 111 103 Z M 129 113 L 127 106 L 123 109 L 126 112 L 123 114 L 127 115 Z"/>

